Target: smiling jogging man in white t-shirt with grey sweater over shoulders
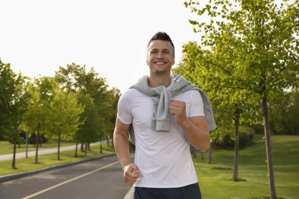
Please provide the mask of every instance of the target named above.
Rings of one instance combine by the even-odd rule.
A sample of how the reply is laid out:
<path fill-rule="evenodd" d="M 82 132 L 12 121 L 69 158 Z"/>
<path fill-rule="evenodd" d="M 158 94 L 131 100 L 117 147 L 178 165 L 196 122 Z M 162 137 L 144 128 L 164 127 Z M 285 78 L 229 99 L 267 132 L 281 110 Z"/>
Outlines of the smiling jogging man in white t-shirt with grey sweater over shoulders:
<path fill-rule="evenodd" d="M 190 144 L 204 152 L 215 123 L 203 91 L 170 75 L 174 45 L 157 32 L 147 49 L 149 77 L 142 77 L 118 104 L 114 146 L 135 199 L 201 199 Z M 130 128 L 131 127 L 131 128 Z M 130 132 L 129 132 L 130 131 Z M 128 132 L 136 145 L 130 162 Z"/>

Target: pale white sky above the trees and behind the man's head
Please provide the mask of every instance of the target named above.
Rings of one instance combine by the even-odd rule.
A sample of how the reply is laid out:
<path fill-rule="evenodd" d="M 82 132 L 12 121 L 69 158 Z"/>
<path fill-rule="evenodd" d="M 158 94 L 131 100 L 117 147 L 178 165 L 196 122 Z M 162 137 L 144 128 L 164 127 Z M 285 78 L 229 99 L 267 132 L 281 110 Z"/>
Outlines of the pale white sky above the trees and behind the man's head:
<path fill-rule="evenodd" d="M 149 39 L 165 31 L 175 47 L 200 41 L 185 0 L 0 0 L 0 58 L 30 78 L 54 76 L 59 66 L 94 67 L 125 92 L 141 76 Z M 174 65 L 175 67 L 176 65 Z"/>

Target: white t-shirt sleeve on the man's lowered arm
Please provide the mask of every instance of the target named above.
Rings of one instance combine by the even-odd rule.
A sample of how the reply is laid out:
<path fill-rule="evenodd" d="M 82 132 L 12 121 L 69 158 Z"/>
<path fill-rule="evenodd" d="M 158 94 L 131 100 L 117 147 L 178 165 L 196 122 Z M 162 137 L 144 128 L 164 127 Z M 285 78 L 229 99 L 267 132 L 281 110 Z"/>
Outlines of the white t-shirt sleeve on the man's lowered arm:
<path fill-rule="evenodd" d="M 131 124 L 133 120 L 133 115 L 129 108 L 128 101 L 126 99 L 126 93 L 124 93 L 117 106 L 117 117 L 124 123 L 124 124 Z"/>

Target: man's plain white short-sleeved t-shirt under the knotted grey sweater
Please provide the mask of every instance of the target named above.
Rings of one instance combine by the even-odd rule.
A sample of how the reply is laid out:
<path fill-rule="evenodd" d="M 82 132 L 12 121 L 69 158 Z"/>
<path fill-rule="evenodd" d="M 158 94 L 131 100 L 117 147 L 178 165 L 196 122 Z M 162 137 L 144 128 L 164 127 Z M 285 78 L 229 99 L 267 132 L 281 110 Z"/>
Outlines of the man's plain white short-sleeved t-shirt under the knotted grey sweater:
<path fill-rule="evenodd" d="M 168 90 L 173 86 L 172 80 Z M 204 116 L 203 102 L 198 91 L 182 93 L 173 100 L 186 102 L 188 117 Z M 136 89 L 125 92 L 118 103 L 118 118 L 125 124 L 133 123 L 135 132 L 135 162 L 139 179 L 135 187 L 177 188 L 197 183 L 190 154 L 190 144 L 172 116 L 169 132 L 150 129 L 153 99 Z"/>

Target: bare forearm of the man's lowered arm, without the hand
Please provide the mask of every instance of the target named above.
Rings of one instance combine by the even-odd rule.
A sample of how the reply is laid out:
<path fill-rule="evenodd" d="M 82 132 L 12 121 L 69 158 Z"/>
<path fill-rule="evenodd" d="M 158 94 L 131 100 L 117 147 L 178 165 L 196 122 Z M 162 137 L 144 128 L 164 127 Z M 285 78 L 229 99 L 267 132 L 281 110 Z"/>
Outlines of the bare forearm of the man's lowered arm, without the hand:
<path fill-rule="evenodd" d="M 113 141 L 115 151 L 124 169 L 125 166 L 131 164 L 128 138 L 123 134 L 114 133 Z"/>

